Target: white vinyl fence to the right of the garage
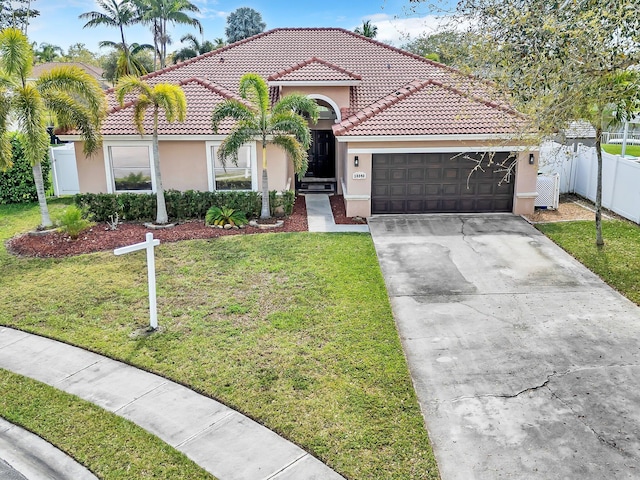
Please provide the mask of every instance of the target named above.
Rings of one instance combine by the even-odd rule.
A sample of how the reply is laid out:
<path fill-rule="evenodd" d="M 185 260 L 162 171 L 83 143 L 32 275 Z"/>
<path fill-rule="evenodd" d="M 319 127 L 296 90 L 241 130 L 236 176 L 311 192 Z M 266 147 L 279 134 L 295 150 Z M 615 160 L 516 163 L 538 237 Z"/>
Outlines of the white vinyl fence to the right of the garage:
<path fill-rule="evenodd" d="M 560 175 L 560 193 L 595 201 L 598 159 L 594 147 L 555 142 L 540 148 L 540 173 Z M 640 160 L 602 152 L 602 206 L 640 223 Z"/>

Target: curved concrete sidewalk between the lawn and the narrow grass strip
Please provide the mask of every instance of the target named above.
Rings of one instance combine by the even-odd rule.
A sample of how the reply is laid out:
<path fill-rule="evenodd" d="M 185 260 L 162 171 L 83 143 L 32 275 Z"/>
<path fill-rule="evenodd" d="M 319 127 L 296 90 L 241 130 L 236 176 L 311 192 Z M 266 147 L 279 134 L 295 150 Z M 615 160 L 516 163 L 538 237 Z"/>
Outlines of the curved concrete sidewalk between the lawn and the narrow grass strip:
<path fill-rule="evenodd" d="M 0 327 L 0 368 L 131 420 L 220 480 L 343 478 L 298 446 L 215 400 L 80 348 Z"/>

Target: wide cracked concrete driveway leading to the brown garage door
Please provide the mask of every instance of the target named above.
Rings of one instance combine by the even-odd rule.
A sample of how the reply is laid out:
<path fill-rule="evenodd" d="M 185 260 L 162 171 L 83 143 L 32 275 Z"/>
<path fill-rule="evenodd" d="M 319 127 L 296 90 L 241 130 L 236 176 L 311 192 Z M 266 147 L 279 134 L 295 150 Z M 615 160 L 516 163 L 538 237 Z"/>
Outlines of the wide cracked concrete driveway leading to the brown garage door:
<path fill-rule="evenodd" d="M 637 306 L 516 216 L 369 226 L 443 480 L 640 478 Z"/>

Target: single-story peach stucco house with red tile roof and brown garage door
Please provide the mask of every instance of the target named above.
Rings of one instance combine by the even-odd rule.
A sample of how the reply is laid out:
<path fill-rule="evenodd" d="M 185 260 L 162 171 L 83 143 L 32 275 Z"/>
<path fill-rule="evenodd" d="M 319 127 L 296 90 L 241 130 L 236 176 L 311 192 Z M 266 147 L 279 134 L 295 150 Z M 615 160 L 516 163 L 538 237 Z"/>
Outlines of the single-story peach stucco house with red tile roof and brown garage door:
<path fill-rule="evenodd" d="M 187 96 L 187 120 L 159 126 L 165 188 L 260 190 L 259 146 L 247 144 L 238 165 L 224 169 L 216 152 L 231 123 L 218 135 L 210 125 L 215 105 L 239 98 L 247 72 L 268 82 L 273 101 L 300 92 L 321 108 L 305 178 L 297 181 L 285 154 L 269 146 L 271 189 L 341 193 L 349 216 L 533 211 L 537 153 L 510 141 L 524 120 L 492 99 L 488 84 L 338 28 L 271 30 L 144 77 L 179 83 Z M 151 192 L 151 136 L 136 132 L 131 104 L 107 95 L 103 152 L 85 159 L 76 142 L 80 189 Z M 495 164 L 469 177 L 482 152 L 494 161 L 515 152 L 508 182 Z"/>

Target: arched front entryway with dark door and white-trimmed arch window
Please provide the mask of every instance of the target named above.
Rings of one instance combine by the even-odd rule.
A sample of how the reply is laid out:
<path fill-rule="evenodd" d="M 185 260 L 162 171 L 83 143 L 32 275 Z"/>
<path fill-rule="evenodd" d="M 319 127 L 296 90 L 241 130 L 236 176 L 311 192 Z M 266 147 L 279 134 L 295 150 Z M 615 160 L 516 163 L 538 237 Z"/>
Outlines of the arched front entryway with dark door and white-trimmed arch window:
<path fill-rule="evenodd" d="M 309 95 L 318 104 L 320 110 L 318 122 L 309 124 L 311 129 L 311 147 L 309 148 L 309 168 L 302 179 L 296 178 L 299 192 L 337 191 L 336 175 L 336 137 L 332 126 L 339 121 L 340 110 L 328 97 Z"/>

